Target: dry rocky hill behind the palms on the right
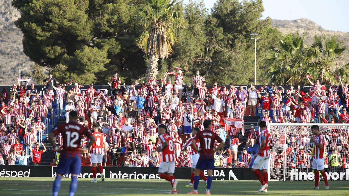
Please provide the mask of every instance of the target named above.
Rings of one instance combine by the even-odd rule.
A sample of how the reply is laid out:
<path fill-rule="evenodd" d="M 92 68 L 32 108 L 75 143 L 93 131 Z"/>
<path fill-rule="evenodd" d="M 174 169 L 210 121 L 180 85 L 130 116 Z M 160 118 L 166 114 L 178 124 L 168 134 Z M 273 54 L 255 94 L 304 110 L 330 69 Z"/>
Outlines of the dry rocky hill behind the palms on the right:
<path fill-rule="evenodd" d="M 320 25 L 315 22 L 306 19 L 300 18 L 293 21 L 288 20 L 272 20 L 272 26 L 276 27 L 282 33 L 290 33 L 298 31 L 300 34 L 305 32 L 305 43 L 311 45 L 313 43 L 313 38 L 315 35 L 335 35 L 338 37 L 338 40 L 344 40 L 343 45 L 348 47 L 348 50 L 344 52 L 344 62 L 349 62 L 349 32 L 341 31 L 329 31 L 323 29 Z"/>

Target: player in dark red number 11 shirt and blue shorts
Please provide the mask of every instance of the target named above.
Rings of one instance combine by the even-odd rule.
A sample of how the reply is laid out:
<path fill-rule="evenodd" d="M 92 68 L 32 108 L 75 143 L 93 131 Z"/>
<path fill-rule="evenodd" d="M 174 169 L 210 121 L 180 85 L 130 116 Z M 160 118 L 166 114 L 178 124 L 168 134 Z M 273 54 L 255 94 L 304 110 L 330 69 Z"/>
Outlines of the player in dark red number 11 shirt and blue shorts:
<path fill-rule="evenodd" d="M 220 138 L 216 133 L 214 133 L 212 130 L 212 121 L 211 120 L 205 120 L 203 121 L 203 128 L 205 130 L 199 131 L 192 141 L 192 149 L 194 149 L 196 152 L 200 153 L 200 157 L 198 160 L 198 163 L 196 164 L 195 168 L 195 177 L 194 177 L 194 190 L 189 192 L 188 194 L 198 194 L 198 186 L 200 181 L 200 172 L 201 170 L 207 169 L 207 189 L 206 189 L 206 195 L 210 194 L 210 188 L 212 184 L 212 175 L 213 175 L 213 169 L 215 168 L 215 160 L 214 160 L 214 153 L 221 149 L 224 145 L 224 142 L 222 138 Z M 196 146 L 196 141 L 200 141 L 200 147 L 201 149 L 198 149 Z M 215 141 L 220 142 L 217 148 L 214 148 Z"/>

